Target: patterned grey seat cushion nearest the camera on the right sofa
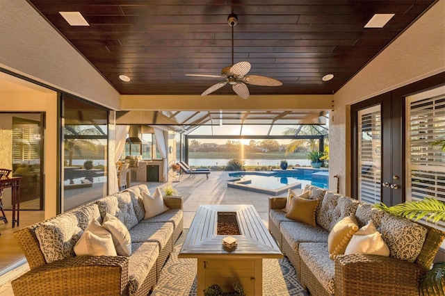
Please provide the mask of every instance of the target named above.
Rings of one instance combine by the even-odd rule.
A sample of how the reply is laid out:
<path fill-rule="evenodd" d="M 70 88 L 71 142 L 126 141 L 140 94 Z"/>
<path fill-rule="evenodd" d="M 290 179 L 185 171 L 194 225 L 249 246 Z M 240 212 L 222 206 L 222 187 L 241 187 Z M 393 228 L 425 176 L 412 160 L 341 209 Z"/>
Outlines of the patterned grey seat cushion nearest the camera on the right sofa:
<path fill-rule="evenodd" d="M 334 261 L 329 258 L 327 242 L 302 242 L 298 252 L 321 286 L 334 295 Z"/>

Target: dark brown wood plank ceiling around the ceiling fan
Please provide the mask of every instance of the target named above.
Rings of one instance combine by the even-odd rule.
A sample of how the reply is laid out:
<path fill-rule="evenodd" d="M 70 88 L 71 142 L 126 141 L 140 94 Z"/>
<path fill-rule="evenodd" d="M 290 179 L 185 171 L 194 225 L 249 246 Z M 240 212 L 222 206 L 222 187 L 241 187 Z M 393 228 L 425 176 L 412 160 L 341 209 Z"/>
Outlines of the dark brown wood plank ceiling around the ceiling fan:
<path fill-rule="evenodd" d="M 120 94 L 201 94 L 234 62 L 282 81 L 250 94 L 332 94 L 403 32 L 434 0 L 28 0 Z M 90 26 L 70 26 L 79 11 Z M 384 28 L 364 28 L 394 13 Z M 60 65 L 63 67 L 63 65 Z M 125 74 L 130 82 L 120 81 Z M 334 74 L 331 81 L 322 81 Z M 214 94 L 234 94 L 229 85 Z"/>

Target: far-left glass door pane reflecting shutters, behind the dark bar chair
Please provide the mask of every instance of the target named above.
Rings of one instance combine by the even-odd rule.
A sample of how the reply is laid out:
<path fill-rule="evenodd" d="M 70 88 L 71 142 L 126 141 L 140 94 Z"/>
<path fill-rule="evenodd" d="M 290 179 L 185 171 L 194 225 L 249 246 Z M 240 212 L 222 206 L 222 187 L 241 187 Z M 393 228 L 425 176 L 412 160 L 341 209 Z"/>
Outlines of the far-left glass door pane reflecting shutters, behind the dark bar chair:
<path fill-rule="evenodd" d="M 13 116 L 13 176 L 21 176 L 20 209 L 42 210 L 42 121 L 40 113 Z"/>

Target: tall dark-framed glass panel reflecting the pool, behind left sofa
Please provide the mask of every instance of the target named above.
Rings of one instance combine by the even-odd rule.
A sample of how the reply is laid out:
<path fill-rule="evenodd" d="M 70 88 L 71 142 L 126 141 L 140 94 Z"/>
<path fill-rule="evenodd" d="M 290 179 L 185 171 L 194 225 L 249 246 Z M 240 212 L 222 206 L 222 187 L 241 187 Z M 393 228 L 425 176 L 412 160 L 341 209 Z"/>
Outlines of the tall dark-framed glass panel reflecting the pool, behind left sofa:
<path fill-rule="evenodd" d="M 64 97 L 63 211 L 106 196 L 108 111 Z"/>

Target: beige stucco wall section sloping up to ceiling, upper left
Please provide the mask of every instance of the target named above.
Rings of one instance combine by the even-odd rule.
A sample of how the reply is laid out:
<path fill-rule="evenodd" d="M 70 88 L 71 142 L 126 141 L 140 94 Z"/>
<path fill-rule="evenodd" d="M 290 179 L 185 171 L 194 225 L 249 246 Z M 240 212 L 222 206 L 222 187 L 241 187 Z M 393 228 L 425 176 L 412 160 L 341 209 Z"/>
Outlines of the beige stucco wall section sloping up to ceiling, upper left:
<path fill-rule="evenodd" d="M 0 0 L 0 67 L 118 110 L 119 93 L 26 0 Z"/>

